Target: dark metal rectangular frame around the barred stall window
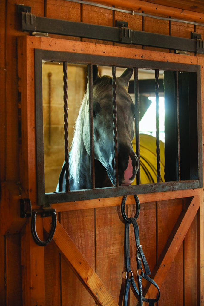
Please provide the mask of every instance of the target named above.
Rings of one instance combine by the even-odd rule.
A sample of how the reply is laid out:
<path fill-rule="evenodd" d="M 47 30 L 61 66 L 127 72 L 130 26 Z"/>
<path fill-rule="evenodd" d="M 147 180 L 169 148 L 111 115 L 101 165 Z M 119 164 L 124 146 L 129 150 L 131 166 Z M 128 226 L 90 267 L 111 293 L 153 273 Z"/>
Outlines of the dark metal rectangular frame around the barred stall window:
<path fill-rule="evenodd" d="M 138 87 L 137 69 L 159 69 L 172 71 L 195 72 L 197 75 L 197 128 L 198 128 L 198 180 L 171 181 L 138 185 L 97 188 L 94 190 L 80 190 L 69 192 L 45 193 L 44 187 L 44 152 L 43 152 L 43 99 L 42 99 L 42 61 L 68 62 L 75 64 L 94 64 L 119 67 L 134 67 L 135 87 Z M 135 90 L 135 92 L 137 92 Z M 137 95 L 135 95 L 137 101 Z M 202 131 L 201 131 L 201 67 L 194 64 L 149 61 L 143 59 L 104 57 L 100 55 L 78 54 L 64 51 L 35 49 L 35 120 L 36 120 L 36 155 L 37 155 L 37 198 L 38 204 L 49 207 L 53 203 L 71 202 L 122 195 L 133 195 L 152 192 L 164 192 L 202 187 Z M 135 123 L 138 125 L 138 120 Z M 139 138 L 136 139 L 136 149 Z"/>

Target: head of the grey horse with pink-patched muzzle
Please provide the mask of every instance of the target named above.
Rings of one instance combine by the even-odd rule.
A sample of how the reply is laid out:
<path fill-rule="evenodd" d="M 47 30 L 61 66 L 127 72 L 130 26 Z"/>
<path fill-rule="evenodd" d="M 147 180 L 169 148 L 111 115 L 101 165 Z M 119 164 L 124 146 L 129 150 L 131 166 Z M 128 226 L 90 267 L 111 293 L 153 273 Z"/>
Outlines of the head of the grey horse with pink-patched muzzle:
<path fill-rule="evenodd" d="M 120 185 L 132 184 L 139 168 L 138 157 L 132 148 L 135 106 L 128 94 L 132 73 L 132 68 L 125 69 L 121 76 L 117 77 L 116 82 L 118 178 Z M 109 179 L 114 184 L 112 77 L 107 75 L 100 77 L 97 66 L 93 66 L 93 105 L 94 157 L 105 167 Z M 89 152 L 90 146 L 88 120 L 88 116 L 86 116 L 83 122 L 83 142 L 87 152 Z"/>

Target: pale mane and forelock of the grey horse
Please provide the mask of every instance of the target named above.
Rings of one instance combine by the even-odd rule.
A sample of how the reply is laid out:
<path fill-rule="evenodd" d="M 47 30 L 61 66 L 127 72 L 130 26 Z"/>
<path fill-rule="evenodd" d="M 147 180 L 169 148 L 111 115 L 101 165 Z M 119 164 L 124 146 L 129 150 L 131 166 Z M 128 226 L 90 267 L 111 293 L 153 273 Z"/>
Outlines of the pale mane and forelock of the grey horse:
<path fill-rule="evenodd" d="M 93 82 L 93 100 L 97 99 L 100 93 L 110 88 L 112 84 L 112 77 L 104 75 L 102 77 L 97 77 Z M 88 84 L 87 84 L 88 88 Z M 74 136 L 71 145 L 71 151 L 69 154 L 69 165 L 70 165 L 70 180 L 73 182 L 80 180 L 80 172 L 83 170 L 80 165 L 80 156 L 83 156 L 84 144 L 83 144 L 83 123 L 84 117 L 89 114 L 88 105 L 88 89 L 85 91 L 83 100 L 81 102 L 78 117 L 75 122 Z M 87 171 L 87 170 L 84 170 Z"/>

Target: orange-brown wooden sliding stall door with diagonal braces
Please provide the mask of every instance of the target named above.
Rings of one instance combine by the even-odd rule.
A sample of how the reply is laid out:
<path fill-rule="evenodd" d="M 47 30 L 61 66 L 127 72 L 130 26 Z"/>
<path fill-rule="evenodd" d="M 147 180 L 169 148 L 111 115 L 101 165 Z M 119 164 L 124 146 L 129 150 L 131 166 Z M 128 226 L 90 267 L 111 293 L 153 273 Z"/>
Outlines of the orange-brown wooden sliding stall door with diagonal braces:
<path fill-rule="evenodd" d="M 61 50 L 79 54 L 137 57 L 159 61 L 201 64 L 201 58 L 151 50 L 68 41 L 55 38 L 20 37 L 18 39 L 18 76 L 21 93 L 22 185 L 33 209 L 36 201 L 35 147 L 35 74 L 34 50 Z M 201 195 L 200 195 L 201 192 Z M 202 233 L 196 240 L 197 227 L 203 228 L 200 207 L 202 190 L 140 194 L 140 241 L 152 271 L 161 287 L 158 305 L 196 305 L 202 288 Z M 28 220 L 21 231 L 21 264 L 24 305 L 122 305 L 124 290 L 124 223 L 122 197 L 52 204 L 57 211 L 53 241 L 45 248 L 37 246 Z M 133 196 L 128 196 L 128 214 L 134 215 Z M 197 214 L 198 212 L 198 214 Z M 197 219 L 196 219 L 197 218 Z M 37 218 L 37 231 L 44 237 L 50 230 L 49 218 Z M 198 234 L 199 234 L 198 233 Z M 193 242 L 193 252 L 188 246 Z M 202 240 L 201 240 L 202 241 Z M 190 258 L 191 265 L 187 258 Z M 195 260 L 197 259 L 197 260 Z M 136 277 L 134 235 L 131 233 L 132 271 Z M 197 271 L 197 274 L 193 273 Z M 194 286 L 189 288 L 191 284 Z M 193 278 L 192 278 L 193 277 Z M 198 278 L 198 282 L 197 282 Z M 176 285 L 175 284 L 179 284 Z M 179 288 L 179 290 L 178 290 Z M 182 288 L 182 291 L 180 289 Z M 182 292 L 182 293 L 181 293 Z M 144 284 L 144 294 L 155 297 L 153 288 Z M 168 299 L 166 299 L 168 296 Z M 179 296 L 179 302 L 177 297 Z M 175 300 L 176 299 L 176 300 Z M 130 293 L 130 305 L 136 303 Z"/>

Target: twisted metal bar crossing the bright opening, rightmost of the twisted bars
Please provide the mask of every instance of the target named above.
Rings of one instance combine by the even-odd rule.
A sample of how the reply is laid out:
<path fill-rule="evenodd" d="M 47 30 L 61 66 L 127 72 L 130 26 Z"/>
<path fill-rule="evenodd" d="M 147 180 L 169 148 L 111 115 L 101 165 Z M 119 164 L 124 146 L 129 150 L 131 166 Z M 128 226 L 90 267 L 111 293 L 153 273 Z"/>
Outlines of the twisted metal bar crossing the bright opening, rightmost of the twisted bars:
<path fill-rule="evenodd" d="M 155 69 L 156 96 L 156 152 L 157 152 L 157 182 L 161 183 L 160 140 L 159 140 L 159 70 Z"/>

